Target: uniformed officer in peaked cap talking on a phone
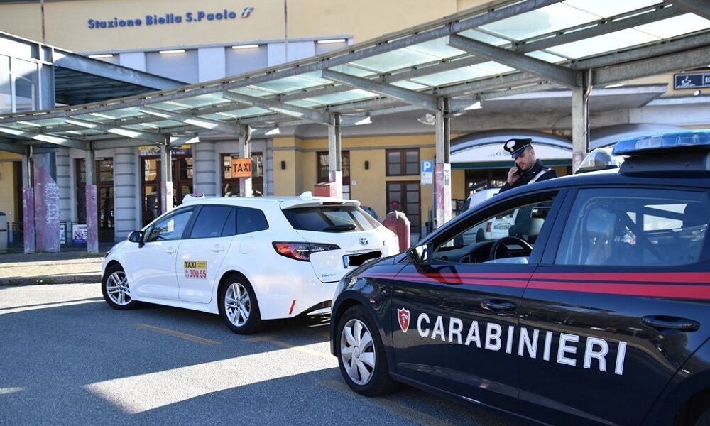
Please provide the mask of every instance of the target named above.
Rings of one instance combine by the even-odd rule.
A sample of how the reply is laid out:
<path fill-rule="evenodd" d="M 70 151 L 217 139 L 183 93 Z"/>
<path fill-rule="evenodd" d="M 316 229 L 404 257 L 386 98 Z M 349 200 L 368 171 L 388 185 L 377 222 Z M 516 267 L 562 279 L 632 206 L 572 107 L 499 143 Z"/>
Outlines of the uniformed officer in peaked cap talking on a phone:
<path fill-rule="evenodd" d="M 541 160 L 535 158 L 535 148 L 532 148 L 530 143 L 532 143 L 530 138 L 506 141 L 503 149 L 510 153 L 515 160 L 515 165 L 508 170 L 508 180 L 500 192 L 540 180 L 557 178 L 555 170 L 545 167 Z"/>

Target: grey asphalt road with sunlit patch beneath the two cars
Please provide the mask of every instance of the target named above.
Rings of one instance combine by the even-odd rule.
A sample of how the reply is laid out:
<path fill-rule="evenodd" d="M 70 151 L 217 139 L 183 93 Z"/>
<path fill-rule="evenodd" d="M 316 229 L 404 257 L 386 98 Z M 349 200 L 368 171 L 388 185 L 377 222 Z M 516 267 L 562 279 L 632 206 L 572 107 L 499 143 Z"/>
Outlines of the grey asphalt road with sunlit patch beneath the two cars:
<path fill-rule="evenodd" d="M 217 315 L 116 311 L 97 284 L 0 288 L 0 425 L 517 425 L 408 386 L 350 391 L 328 318 L 240 336 Z"/>

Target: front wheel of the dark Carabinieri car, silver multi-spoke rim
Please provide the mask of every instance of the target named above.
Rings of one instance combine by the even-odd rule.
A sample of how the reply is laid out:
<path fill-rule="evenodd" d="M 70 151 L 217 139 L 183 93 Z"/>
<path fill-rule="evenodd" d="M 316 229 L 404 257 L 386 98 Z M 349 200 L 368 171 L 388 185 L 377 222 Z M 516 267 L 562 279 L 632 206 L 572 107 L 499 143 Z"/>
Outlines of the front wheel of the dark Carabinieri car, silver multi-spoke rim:
<path fill-rule="evenodd" d="M 338 322 L 338 364 L 348 386 L 361 395 L 377 396 L 397 388 L 387 371 L 378 328 L 361 305 L 350 307 Z"/>

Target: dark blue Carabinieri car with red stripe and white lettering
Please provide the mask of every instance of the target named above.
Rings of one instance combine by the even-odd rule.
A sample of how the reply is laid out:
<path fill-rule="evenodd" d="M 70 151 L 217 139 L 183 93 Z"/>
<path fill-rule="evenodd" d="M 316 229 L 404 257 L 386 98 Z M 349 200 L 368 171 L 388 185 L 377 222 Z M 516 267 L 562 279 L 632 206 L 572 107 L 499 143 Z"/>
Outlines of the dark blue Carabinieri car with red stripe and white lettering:
<path fill-rule="evenodd" d="M 331 340 L 348 385 L 554 425 L 709 425 L 710 130 L 614 154 L 618 169 L 496 195 L 345 275 Z M 491 221 L 508 236 L 465 244 Z"/>

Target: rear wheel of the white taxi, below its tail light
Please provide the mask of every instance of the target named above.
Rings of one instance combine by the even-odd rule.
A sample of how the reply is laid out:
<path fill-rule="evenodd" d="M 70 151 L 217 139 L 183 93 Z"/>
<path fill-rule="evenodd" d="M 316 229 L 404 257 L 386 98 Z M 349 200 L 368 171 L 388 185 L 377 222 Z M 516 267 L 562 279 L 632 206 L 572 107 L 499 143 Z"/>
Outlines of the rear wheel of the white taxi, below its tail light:
<path fill-rule="evenodd" d="M 232 275 L 220 288 L 219 315 L 236 334 L 260 332 L 266 326 L 251 284 L 239 275 Z"/>

